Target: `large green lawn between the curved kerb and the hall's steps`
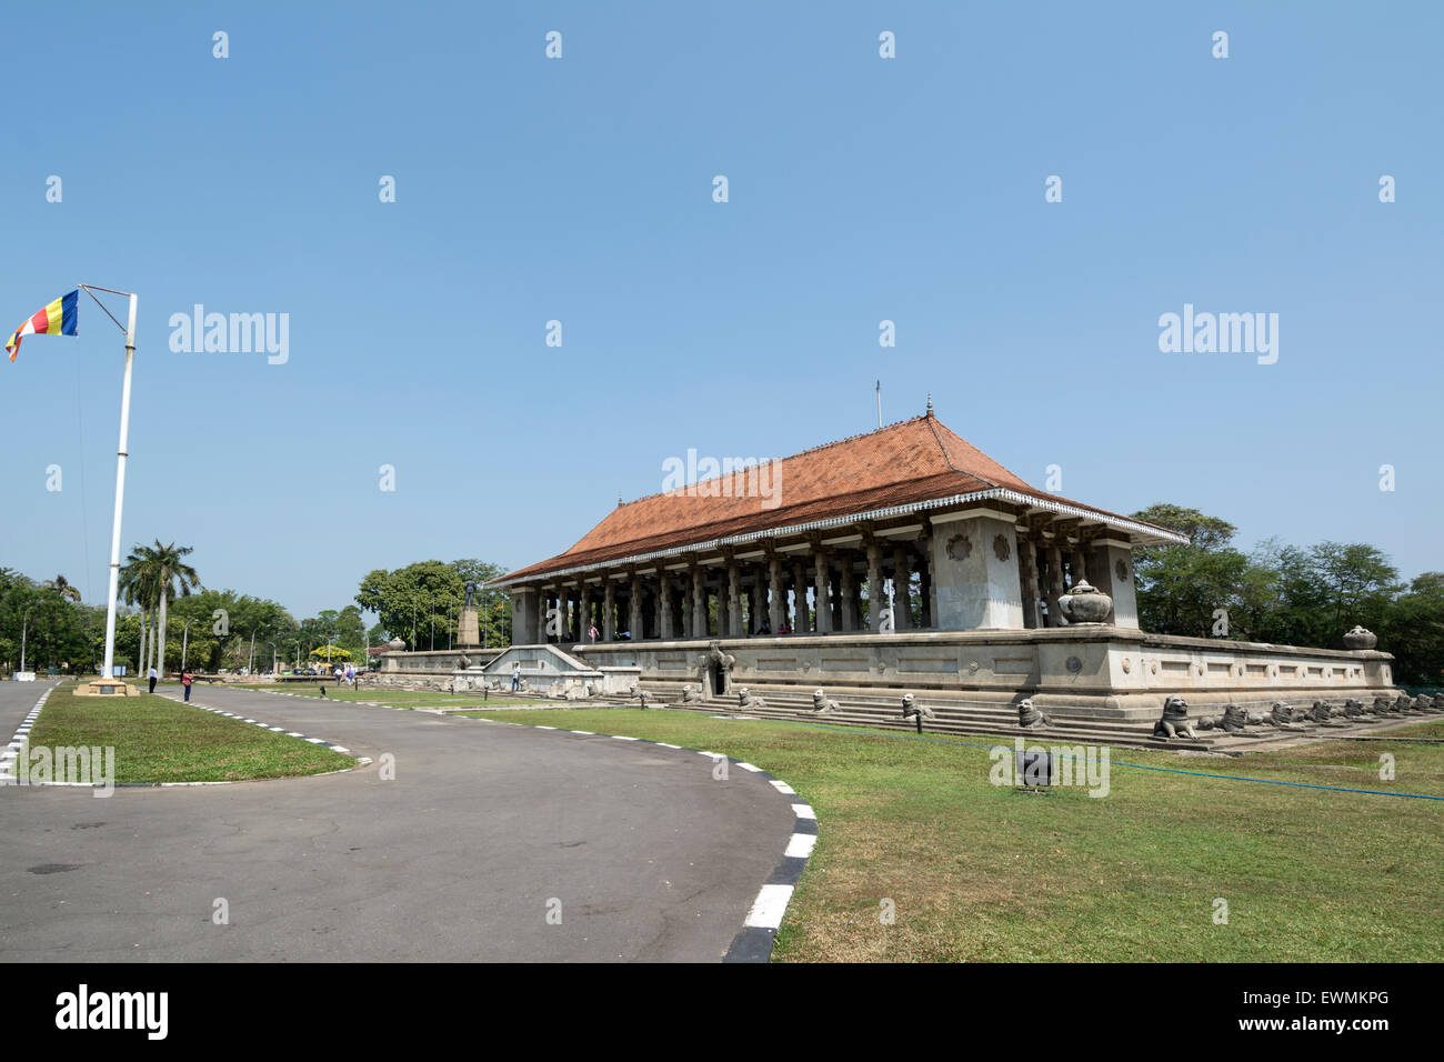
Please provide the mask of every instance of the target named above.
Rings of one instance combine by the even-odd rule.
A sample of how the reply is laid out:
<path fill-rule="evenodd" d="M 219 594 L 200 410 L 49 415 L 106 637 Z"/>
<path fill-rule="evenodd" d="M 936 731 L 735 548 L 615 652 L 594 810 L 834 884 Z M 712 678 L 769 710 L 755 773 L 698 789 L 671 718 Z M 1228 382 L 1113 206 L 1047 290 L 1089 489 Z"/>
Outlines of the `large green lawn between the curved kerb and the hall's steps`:
<path fill-rule="evenodd" d="M 773 772 L 819 841 L 787 961 L 1440 961 L 1444 746 L 1321 741 L 1242 759 L 1113 750 L 1110 792 L 989 783 L 989 738 L 920 741 L 683 711 L 466 712 L 669 741 Z M 1444 738 L 1444 724 L 1404 731 Z M 1012 738 L 999 738 L 1012 746 Z M 1035 738 L 1030 744 L 1050 744 Z M 1396 780 L 1380 782 L 1391 753 Z M 895 922 L 879 920 L 882 900 Z M 1214 923 L 1214 900 L 1227 923 Z"/>

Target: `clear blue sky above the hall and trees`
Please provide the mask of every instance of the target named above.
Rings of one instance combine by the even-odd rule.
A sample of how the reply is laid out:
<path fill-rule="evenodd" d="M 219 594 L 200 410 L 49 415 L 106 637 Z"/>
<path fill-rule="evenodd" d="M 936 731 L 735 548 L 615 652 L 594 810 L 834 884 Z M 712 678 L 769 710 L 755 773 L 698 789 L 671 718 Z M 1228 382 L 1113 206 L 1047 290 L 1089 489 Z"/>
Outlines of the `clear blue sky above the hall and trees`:
<path fill-rule="evenodd" d="M 123 542 L 192 545 L 209 587 L 302 617 L 373 568 L 521 566 L 687 448 L 783 457 L 874 428 L 875 380 L 885 420 L 931 392 L 946 425 L 1037 485 L 1061 465 L 1090 504 L 1444 566 L 1434 4 L 58 17 L 3 19 L 25 46 L 0 328 L 79 280 L 140 293 Z M 289 314 L 289 360 L 172 353 L 193 303 Z M 1278 314 L 1276 364 L 1160 353 L 1184 303 Z M 90 601 L 121 367 L 84 296 L 78 338 L 0 364 L 0 564 Z"/>

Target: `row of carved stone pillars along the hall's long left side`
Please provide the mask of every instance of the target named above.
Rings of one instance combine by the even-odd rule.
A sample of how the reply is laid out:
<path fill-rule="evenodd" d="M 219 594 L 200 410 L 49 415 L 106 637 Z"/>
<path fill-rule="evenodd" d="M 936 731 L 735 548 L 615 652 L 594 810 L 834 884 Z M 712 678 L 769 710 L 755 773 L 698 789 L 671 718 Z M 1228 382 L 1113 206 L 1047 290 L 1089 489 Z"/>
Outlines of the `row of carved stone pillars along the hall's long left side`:
<path fill-rule="evenodd" d="M 874 539 L 862 549 L 813 545 L 806 553 L 774 552 L 760 561 L 723 556 L 721 565 L 692 562 L 660 572 L 604 572 L 599 582 L 514 588 L 513 639 L 592 642 L 593 629 L 598 642 L 622 633 L 666 640 L 878 631 L 888 590 L 894 629 L 933 626 L 926 548 Z M 531 594 L 540 594 L 534 605 L 527 603 Z"/>

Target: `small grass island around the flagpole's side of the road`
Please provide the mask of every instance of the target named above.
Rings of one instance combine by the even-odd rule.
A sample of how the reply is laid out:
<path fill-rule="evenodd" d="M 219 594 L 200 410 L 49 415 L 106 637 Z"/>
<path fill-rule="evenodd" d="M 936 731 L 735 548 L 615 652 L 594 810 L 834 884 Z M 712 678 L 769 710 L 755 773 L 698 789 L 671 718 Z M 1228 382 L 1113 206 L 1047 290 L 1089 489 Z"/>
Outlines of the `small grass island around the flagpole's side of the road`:
<path fill-rule="evenodd" d="M 29 744 L 114 747 L 116 782 L 240 782 L 355 766 L 331 748 L 162 696 L 75 696 L 74 689 L 64 683 L 51 694 Z"/>

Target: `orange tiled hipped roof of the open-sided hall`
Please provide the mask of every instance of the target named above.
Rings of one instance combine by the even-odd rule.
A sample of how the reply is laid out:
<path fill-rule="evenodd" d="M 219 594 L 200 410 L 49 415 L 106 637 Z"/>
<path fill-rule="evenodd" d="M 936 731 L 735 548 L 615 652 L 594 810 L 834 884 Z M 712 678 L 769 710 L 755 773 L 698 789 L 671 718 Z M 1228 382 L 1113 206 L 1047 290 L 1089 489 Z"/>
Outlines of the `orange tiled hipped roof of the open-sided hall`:
<path fill-rule="evenodd" d="M 1028 485 L 931 415 L 773 464 L 774 498 L 703 497 L 696 487 L 651 494 L 614 509 L 565 553 L 520 568 L 497 582 L 993 487 L 1136 523 Z"/>

